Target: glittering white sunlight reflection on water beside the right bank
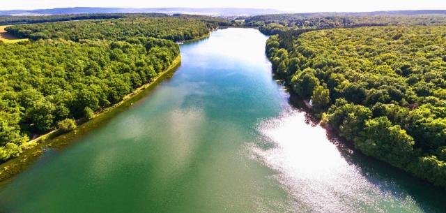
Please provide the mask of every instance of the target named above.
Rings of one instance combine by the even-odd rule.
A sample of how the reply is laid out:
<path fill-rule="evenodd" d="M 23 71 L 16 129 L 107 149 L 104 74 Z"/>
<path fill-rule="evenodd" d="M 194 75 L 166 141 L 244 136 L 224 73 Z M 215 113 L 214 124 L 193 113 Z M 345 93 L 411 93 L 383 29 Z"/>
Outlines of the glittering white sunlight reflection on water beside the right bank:
<path fill-rule="evenodd" d="M 305 123 L 302 112 L 289 109 L 259 122 L 258 131 L 261 145 L 249 149 L 277 171 L 276 178 L 301 212 L 422 212 L 410 196 L 394 196 L 371 183 L 346 161 L 324 128 Z"/>

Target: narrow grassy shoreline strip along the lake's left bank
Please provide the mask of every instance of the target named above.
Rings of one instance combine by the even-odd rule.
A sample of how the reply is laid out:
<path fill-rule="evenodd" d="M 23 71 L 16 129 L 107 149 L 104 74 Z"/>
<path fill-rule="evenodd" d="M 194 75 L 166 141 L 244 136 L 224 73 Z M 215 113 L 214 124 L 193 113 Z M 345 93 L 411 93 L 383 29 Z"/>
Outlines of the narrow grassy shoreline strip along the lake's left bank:
<path fill-rule="evenodd" d="M 56 131 L 49 132 L 45 135 L 40 135 L 40 137 L 30 140 L 28 143 L 35 143 L 30 149 L 24 150 L 20 156 L 15 159 L 10 159 L 5 163 L 0 164 L 0 188 L 8 182 L 12 181 L 20 172 L 29 168 L 33 162 L 39 159 L 39 157 L 45 152 L 46 149 L 57 149 L 61 150 L 64 147 L 68 147 L 77 140 L 83 138 L 85 135 L 89 134 L 93 129 L 102 126 L 109 122 L 118 113 L 123 112 L 130 108 L 134 101 L 138 101 L 144 98 L 146 95 L 150 94 L 153 89 L 160 84 L 163 80 L 171 78 L 176 71 L 176 68 L 181 64 L 181 57 L 178 56 L 172 62 L 171 66 L 165 71 L 160 73 L 153 81 L 148 82 L 137 89 L 134 89 L 132 93 L 124 96 L 123 100 L 115 103 L 109 108 L 105 108 L 98 112 L 95 117 L 87 122 L 82 122 L 79 124 L 75 130 L 69 133 L 58 134 Z M 40 142 L 39 142 L 40 141 Z"/>

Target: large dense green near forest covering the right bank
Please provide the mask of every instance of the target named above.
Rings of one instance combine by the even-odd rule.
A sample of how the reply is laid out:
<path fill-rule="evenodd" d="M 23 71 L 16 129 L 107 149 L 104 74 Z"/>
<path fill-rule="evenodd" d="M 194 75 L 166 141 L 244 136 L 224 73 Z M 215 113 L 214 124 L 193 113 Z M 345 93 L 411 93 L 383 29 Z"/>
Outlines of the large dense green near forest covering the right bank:
<path fill-rule="evenodd" d="M 285 30 L 266 53 L 323 124 L 364 154 L 446 186 L 446 27 Z"/>

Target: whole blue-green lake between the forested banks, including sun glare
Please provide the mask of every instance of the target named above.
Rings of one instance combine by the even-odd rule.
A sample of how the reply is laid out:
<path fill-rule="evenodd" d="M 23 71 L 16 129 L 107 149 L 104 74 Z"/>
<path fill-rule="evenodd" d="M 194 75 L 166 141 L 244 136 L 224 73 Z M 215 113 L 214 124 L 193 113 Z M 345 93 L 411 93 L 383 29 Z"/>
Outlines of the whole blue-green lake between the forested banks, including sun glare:
<path fill-rule="evenodd" d="M 181 45 L 150 95 L 0 192 L 0 212 L 446 212 L 445 191 L 344 145 L 271 74 L 266 36 Z"/>

